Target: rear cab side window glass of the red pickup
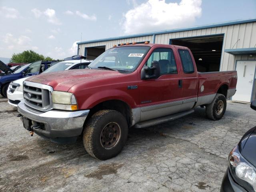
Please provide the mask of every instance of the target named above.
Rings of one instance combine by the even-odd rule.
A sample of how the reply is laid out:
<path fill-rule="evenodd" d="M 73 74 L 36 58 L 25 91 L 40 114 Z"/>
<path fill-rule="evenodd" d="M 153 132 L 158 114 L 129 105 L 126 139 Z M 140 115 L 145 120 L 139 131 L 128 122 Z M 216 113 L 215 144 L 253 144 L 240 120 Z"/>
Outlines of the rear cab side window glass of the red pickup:
<path fill-rule="evenodd" d="M 179 49 L 178 52 L 180 54 L 184 73 L 194 73 L 194 64 L 188 50 Z"/>

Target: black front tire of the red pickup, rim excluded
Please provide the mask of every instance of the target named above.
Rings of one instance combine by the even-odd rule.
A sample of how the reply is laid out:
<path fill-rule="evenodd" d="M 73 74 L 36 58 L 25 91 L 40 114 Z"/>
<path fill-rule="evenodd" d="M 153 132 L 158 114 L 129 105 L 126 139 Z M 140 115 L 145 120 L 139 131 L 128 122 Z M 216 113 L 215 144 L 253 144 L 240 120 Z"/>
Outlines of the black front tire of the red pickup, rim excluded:
<path fill-rule="evenodd" d="M 102 146 L 101 134 L 107 124 L 116 122 L 120 127 L 119 141 L 110 149 Z M 107 160 L 118 155 L 126 144 L 128 124 L 126 118 L 116 110 L 100 110 L 92 115 L 83 132 L 84 148 L 92 157 Z"/>

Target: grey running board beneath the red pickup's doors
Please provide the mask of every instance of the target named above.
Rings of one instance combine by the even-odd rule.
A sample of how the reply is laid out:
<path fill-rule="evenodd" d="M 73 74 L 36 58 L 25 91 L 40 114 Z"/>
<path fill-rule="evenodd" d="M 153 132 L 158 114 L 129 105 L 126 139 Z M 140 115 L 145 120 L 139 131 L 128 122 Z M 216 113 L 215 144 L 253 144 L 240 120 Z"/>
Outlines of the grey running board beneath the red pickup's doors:
<path fill-rule="evenodd" d="M 144 128 L 144 127 L 149 127 L 149 126 L 153 126 L 153 125 L 158 125 L 158 124 L 165 123 L 168 121 L 176 120 L 178 118 L 181 118 L 181 117 L 191 114 L 193 112 L 194 112 L 194 110 L 192 109 L 192 110 L 185 111 L 185 112 L 180 112 L 180 113 L 176 113 L 176 114 L 172 114 L 172 115 L 168 115 L 168 116 L 164 116 L 164 117 L 159 117 L 159 118 L 154 118 L 154 119 L 138 122 L 134 125 L 134 127 L 135 128 Z"/>

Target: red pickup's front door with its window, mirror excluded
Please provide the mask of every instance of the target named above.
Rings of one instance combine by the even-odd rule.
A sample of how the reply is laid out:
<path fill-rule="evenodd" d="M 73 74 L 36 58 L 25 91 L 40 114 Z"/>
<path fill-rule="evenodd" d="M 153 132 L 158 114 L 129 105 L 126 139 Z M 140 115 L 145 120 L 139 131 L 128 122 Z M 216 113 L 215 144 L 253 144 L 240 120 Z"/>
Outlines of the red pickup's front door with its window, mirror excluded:
<path fill-rule="evenodd" d="M 182 87 L 179 85 L 179 80 L 182 80 L 182 73 L 177 66 L 176 57 L 170 46 L 168 48 L 163 46 L 155 48 L 145 63 L 146 66 L 151 66 L 152 61 L 158 61 L 161 75 L 158 79 L 140 82 L 140 121 L 180 111 Z"/>

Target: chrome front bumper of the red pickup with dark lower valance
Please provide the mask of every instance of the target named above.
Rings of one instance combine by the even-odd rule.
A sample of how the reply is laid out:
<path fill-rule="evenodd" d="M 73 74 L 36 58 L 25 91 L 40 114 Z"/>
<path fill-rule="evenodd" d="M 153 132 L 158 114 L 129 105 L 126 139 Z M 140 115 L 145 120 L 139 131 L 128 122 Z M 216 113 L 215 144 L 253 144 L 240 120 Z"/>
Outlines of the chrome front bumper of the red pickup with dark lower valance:
<path fill-rule="evenodd" d="M 33 129 L 39 136 L 57 143 L 73 143 L 82 134 L 84 121 L 90 110 L 64 111 L 50 110 L 41 112 L 24 104 L 18 104 L 18 112 L 32 120 L 33 125 L 41 125 L 41 128 Z"/>

